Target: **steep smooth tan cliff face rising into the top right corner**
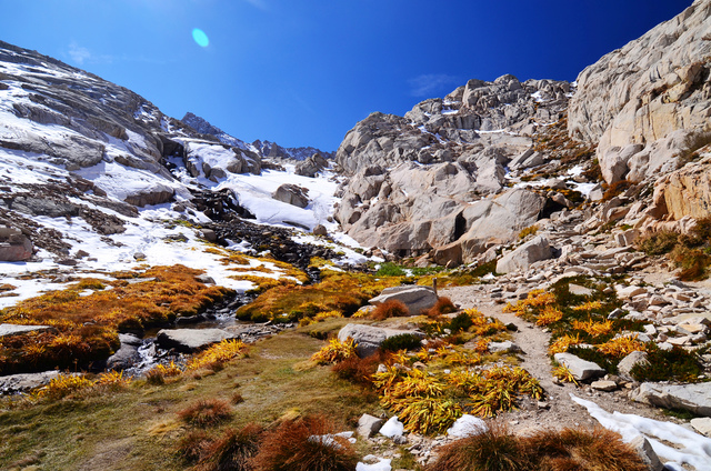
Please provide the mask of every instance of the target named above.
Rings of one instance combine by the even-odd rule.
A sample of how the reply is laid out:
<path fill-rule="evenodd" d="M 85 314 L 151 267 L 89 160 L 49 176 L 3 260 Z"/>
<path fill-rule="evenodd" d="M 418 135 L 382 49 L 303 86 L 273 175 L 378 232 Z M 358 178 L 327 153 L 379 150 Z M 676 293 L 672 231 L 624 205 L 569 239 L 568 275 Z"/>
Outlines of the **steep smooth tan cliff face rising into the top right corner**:
<path fill-rule="evenodd" d="M 571 136 L 599 143 L 608 183 L 641 181 L 711 142 L 711 1 L 610 52 L 578 77 Z"/>

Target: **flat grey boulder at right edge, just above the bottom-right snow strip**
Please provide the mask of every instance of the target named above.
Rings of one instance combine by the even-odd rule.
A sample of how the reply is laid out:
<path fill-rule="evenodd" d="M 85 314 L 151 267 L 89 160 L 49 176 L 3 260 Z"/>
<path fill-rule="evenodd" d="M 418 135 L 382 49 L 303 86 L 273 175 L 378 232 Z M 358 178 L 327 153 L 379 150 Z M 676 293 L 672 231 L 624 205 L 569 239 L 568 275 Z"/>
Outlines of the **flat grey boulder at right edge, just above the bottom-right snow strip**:
<path fill-rule="evenodd" d="M 630 393 L 637 402 L 665 409 L 684 409 L 698 415 L 711 417 L 711 382 L 695 384 L 659 384 L 645 382 Z"/>

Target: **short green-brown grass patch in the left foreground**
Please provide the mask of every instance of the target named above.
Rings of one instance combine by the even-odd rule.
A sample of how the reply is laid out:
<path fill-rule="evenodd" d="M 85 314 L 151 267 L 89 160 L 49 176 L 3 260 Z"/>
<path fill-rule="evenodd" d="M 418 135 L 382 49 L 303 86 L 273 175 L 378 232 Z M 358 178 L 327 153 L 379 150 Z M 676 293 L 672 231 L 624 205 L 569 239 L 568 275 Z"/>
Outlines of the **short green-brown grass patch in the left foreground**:
<path fill-rule="evenodd" d="M 179 470 L 179 440 L 190 429 L 178 412 L 200 399 L 244 402 L 223 427 L 271 424 L 289 411 L 322 413 L 353 428 L 378 404 L 328 367 L 309 358 L 323 342 L 284 332 L 251 347 L 249 357 L 217 373 L 190 374 L 166 385 L 134 381 L 126 392 L 11 405 L 0 402 L 0 469 L 36 463 L 38 469 Z M 200 378 L 200 379 L 197 379 Z M 237 388 L 239 383 L 239 388 Z"/>

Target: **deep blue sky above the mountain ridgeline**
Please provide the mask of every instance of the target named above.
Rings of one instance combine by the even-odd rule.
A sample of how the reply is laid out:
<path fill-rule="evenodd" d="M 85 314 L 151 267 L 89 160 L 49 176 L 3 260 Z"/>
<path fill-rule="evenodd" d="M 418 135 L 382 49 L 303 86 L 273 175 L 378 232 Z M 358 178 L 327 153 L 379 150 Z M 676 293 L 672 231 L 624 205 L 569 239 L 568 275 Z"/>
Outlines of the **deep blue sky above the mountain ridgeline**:
<path fill-rule="evenodd" d="M 0 0 L 0 39 L 243 139 L 336 150 L 467 80 L 574 80 L 691 0 Z M 210 44 L 198 46 L 194 28 Z"/>

